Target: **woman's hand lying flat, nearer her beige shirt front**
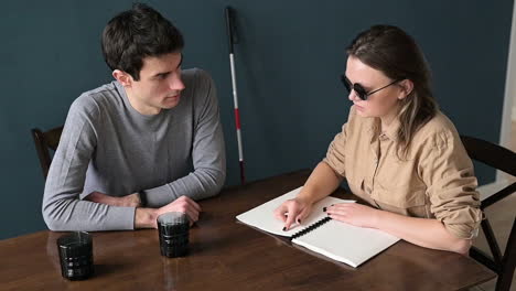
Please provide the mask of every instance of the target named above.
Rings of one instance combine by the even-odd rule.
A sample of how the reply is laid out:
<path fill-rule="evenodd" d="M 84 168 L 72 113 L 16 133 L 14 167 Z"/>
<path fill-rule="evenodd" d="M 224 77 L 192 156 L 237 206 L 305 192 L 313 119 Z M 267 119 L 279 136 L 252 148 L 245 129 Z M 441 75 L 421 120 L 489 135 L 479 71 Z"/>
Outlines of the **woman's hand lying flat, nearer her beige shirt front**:
<path fill-rule="evenodd" d="M 378 209 L 358 203 L 340 203 L 326 207 L 332 219 L 359 227 L 377 228 Z"/>

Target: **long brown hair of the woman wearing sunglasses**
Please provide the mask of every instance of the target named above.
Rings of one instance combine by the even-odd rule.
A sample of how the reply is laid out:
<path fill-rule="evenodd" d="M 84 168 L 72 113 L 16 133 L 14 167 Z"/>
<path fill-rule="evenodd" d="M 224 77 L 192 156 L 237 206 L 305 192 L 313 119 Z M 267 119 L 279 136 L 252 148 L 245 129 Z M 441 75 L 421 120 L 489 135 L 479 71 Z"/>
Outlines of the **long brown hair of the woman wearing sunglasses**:
<path fill-rule="evenodd" d="M 359 33 L 346 52 L 362 63 L 381 71 L 393 80 L 410 79 L 413 83 L 412 91 L 399 100 L 397 155 L 406 159 L 415 133 L 438 110 L 424 55 L 410 35 L 391 25 L 375 25 Z"/>

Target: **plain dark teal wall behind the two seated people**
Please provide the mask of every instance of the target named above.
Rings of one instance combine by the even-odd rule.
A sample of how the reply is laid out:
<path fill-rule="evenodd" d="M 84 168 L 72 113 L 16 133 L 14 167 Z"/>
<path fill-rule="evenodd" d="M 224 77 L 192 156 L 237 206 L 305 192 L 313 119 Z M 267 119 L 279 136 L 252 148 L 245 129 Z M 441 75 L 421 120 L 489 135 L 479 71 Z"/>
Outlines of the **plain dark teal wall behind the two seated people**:
<path fill-rule="evenodd" d="M 218 87 L 228 155 L 238 183 L 223 10 L 238 12 L 236 47 L 249 180 L 312 168 L 346 120 L 338 75 L 344 47 L 375 23 L 399 25 L 423 48 L 437 98 L 459 131 L 499 138 L 513 1 L 149 1 L 184 33 L 184 67 Z M 62 125 L 71 103 L 111 79 L 99 37 L 131 1 L 7 1 L 0 10 L 0 239 L 45 229 L 44 181 L 30 129 Z M 494 172 L 477 168 L 481 182 Z"/>

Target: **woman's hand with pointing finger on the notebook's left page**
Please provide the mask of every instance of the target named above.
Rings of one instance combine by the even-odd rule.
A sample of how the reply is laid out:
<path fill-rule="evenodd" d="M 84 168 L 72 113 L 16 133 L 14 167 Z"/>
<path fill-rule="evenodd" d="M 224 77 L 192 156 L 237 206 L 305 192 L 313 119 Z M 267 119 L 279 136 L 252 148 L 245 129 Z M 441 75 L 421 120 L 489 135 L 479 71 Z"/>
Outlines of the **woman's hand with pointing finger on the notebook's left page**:
<path fill-rule="evenodd" d="M 301 222 L 309 216 L 311 211 L 311 203 L 300 197 L 295 197 L 283 202 L 278 208 L 276 208 L 275 216 L 284 223 L 283 230 L 290 230 L 290 227 L 294 223 L 301 224 Z"/>

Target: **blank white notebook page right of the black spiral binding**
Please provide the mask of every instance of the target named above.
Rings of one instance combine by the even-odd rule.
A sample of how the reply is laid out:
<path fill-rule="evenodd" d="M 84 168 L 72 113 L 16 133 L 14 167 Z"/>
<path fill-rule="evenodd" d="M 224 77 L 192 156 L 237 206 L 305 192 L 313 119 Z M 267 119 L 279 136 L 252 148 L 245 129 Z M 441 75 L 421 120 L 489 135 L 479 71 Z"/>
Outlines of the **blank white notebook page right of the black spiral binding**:
<path fill-rule="evenodd" d="M 332 219 L 292 242 L 356 268 L 398 240 L 378 229 Z"/>

